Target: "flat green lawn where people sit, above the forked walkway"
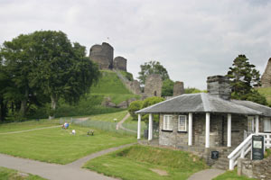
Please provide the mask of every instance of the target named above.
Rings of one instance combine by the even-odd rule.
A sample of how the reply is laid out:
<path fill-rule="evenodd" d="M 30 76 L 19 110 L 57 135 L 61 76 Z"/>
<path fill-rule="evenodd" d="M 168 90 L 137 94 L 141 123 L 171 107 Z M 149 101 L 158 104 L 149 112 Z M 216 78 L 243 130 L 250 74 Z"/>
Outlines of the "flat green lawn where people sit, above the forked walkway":
<path fill-rule="evenodd" d="M 8 124 L 5 125 L 4 130 L 7 128 L 6 126 Z M 27 128 L 26 125 L 25 128 Z M 70 132 L 73 129 L 76 130 L 76 135 L 71 135 Z M 49 163 L 68 164 L 79 157 L 99 150 L 136 141 L 135 137 L 103 130 L 95 130 L 94 136 L 87 136 L 89 129 L 93 128 L 71 125 L 69 130 L 53 128 L 17 134 L 1 134 L 0 153 Z M 0 126 L 0 131 L 2 131 L 2 126 Z"/>

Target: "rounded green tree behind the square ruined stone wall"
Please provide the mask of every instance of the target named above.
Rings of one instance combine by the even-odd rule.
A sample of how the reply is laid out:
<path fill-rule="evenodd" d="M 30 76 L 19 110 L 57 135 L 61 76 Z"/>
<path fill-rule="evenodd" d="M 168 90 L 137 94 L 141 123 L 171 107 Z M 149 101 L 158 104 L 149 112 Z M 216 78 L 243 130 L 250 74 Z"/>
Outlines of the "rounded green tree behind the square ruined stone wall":
<path fill-rule="evenodd" d="M 162 77 L 162 80 L 169 78 L 167 70 L 158 61 L 145 62 L 144 65 L 140 65 L 141 71 L 138 73 L 139 83 L 145 85 L 145 78 L 148 75 L 158 74 Z"/>

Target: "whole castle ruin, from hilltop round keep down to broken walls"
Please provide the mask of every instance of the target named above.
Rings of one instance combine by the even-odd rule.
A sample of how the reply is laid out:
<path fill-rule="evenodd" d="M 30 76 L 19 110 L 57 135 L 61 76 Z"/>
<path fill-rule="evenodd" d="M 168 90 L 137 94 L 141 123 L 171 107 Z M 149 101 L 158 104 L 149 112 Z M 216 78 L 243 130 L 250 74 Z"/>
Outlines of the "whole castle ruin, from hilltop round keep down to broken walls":
<path fill-rule="evenodd" d="M 114 70 L 117 76 L 122 80 L 126 88 L 134 94 L 140 94 L 143 98 L 151 96 L 162 95 L 163 80 L 159 75 L 149 75 L 145 80 L 145 90 L 142 88 L 137 80 L 130 81 L 117 70 L 127 71 L 127 59 L 123 57 L 114 58 L 114 48 L 107 42 L 101 45 L 93 45 L 89 50 L 89 58 L 98 64 L 99 69 Z M 183 83 L 177 81 L 174 85 L 173 96 L 181 95 L 184 93 Z"/>

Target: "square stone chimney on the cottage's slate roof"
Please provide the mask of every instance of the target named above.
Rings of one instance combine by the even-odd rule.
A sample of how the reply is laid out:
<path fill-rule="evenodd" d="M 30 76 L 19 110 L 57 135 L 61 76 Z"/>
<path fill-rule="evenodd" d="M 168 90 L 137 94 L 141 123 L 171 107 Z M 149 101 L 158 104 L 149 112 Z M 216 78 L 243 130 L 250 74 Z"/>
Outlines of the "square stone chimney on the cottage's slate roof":
<path fill-rule="evenodd" d="M 227 76 L 209 76 L 207 77 L 207 93 L 229 100 L 231 88 Z"/>

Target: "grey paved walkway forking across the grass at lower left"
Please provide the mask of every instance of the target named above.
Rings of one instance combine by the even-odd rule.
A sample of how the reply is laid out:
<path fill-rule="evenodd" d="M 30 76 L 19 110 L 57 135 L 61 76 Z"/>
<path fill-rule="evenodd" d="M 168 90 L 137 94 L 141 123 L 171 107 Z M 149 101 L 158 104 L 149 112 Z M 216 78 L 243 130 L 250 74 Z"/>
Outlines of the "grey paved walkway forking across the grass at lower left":
<path fill-rule="evenodd" d="M 117 149 L 126 148 L 134 144 L 135 143 L 131 143 L 116 148 L 108 148 L 91 154 L 87 157 L 79 158 L 78 160 L 68 165 L 50 164 L 31 159 L 0 154 L 0 166 L 16 169 L 33 175 L 40 175 L 51 180 L 113 180 L 115 178 L 100 175 L 96 172 L 82 169 L 80 167 L 92 158 L 99 157 Z"/>

